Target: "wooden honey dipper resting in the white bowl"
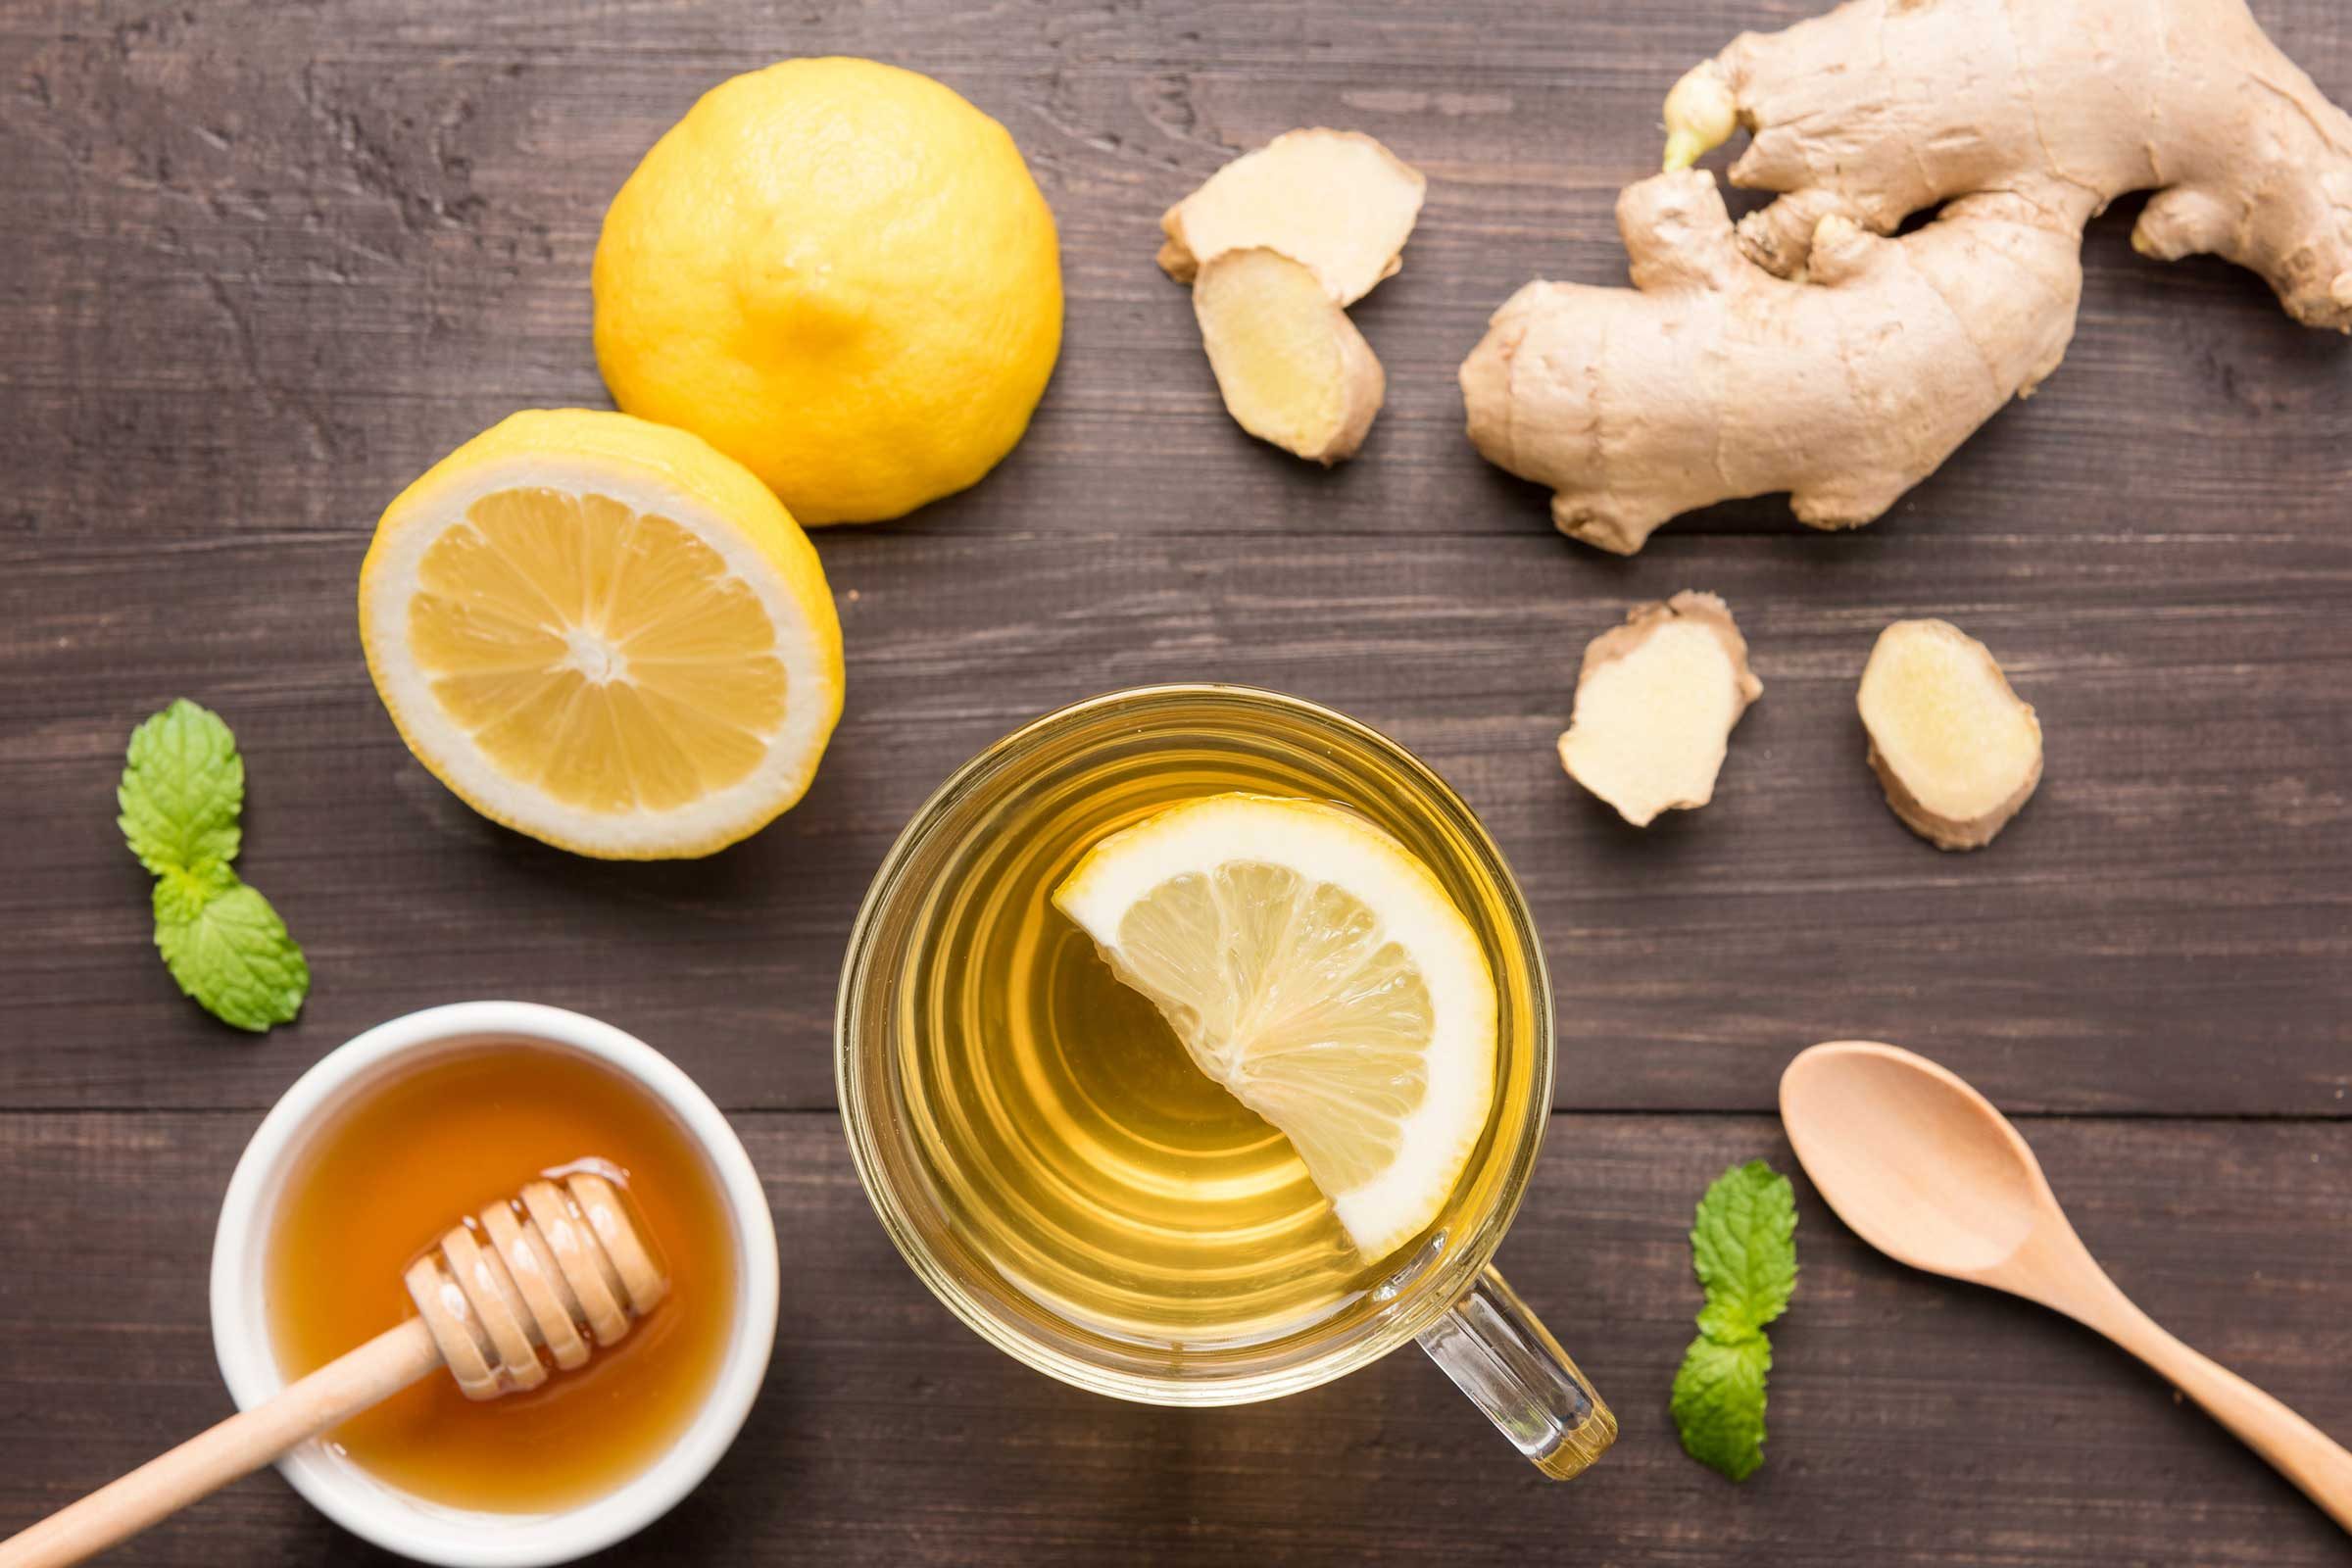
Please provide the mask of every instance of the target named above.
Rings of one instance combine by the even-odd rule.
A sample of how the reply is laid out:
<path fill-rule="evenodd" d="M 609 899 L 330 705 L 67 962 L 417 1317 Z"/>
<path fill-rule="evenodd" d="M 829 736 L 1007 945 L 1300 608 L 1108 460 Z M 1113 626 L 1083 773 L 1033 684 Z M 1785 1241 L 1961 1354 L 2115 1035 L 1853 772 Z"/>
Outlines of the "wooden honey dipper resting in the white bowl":
<path fill-rule="evenodd" d="M 435 1366 L 468 1399 L 534 1389 L 548 1380 L 541 1347 L 562 1371 L 581 1366 L 590 1340 L 612 1345 L 670 1288 L 621 1194 L 593 1171 L 529 1182 L 477 1222 L 452 1225 L 409 1265 L 416 1316 L 0 1542 L 0 1568 L 61 1568 L 115 1547 Z"/>

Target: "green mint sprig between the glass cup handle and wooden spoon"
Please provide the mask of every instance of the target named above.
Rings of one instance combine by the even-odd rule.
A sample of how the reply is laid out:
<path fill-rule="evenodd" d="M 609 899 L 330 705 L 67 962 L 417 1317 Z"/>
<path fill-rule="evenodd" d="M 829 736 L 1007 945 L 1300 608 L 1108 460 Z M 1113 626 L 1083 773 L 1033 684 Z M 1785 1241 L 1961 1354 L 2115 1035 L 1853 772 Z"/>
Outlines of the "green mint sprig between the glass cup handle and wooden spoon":
<path fill-rule="evenodd" d="M 1764 1326 L 1797 1288 L 1797 1192 L 1762 1159 L 1731 1166 L 1698 1199 L 1691 1267 L 1708 1293 L 1675 1373 L 1682 1450 L 1745 1481 L 1764 1465 Z"/>

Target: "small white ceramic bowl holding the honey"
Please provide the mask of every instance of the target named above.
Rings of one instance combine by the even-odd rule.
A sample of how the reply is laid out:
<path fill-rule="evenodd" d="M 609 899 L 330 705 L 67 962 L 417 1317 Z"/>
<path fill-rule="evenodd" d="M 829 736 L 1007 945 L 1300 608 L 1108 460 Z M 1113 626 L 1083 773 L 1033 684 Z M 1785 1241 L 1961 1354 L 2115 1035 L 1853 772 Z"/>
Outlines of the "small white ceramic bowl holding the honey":
<path fill-rule="evenodd" d="M 776 1222 L 760 1175 L 710 1098 L 642 1039 L 553 1006 L 459 1001 L 393 1018 L 332 1051 L 261 1119 L 221 1201 L 212 1239 L 212 1347 L 238 1408 L 282 1389 L 263 1312 L 263 1255 L 287 1168 L 322 1117 L 376 1079 L 487 1039 L 527 1039 L 604 1063 L 661 1100 L 701 1147 L 727 1204 L 736 1246 L 734 1338 L 701 1413 L 649 1469 L 621 1488 L 555 1514 L 480 1514 L 395 1490 L 365 1469 L 303 1443 L 278 1469 L 327 1519 L 388 1552 L 447 1568 L 569 1563 L 661 1519 L 720 1462 L 767 1375 L 776 1347 Z"/>

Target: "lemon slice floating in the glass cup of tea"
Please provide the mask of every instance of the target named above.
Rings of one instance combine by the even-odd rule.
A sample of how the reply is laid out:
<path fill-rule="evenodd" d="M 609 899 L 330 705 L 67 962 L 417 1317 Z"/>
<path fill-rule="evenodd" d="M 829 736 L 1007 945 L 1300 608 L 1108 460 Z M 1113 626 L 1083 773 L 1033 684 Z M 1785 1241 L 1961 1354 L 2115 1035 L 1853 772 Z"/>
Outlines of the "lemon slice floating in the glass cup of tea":
<path fill-rule="evenodd" d="M 1404 844 L 1336 806 L 1214 795 L 1096 844 L 1054 905 L 1291 1140 L 1357 1253 L 1437 1218 L 1494 1105 L 1496 994 Z"/>

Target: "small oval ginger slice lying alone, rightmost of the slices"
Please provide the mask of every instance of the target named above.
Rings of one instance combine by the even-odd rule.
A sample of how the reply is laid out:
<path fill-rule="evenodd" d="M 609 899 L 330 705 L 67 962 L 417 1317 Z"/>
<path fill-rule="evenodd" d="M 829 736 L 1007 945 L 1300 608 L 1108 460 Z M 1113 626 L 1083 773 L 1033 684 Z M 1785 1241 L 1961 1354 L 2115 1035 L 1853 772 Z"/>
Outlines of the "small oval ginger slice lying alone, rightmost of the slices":
<path fill-rule="evenodd" d="M 2042 719 L 1950 621 L 1879 632 L 1856 708 L 1886 804 L 1936 849 L 1983 849 L 2042 783 Z"/>

